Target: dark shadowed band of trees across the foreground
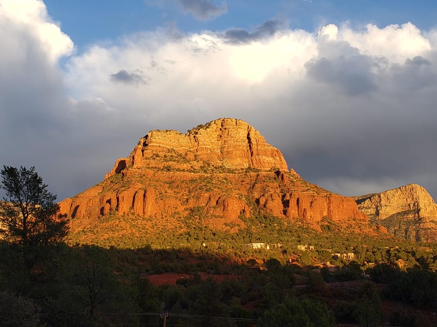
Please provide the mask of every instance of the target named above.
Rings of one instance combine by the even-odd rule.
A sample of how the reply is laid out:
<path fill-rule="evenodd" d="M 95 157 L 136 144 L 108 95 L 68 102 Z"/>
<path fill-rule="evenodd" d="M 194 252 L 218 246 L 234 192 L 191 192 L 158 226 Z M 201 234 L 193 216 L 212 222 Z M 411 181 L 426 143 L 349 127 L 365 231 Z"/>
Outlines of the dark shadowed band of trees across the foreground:
<path fill-rule="evenodd" d="M 29 271 L 19 247 L 3 242 L 0 251 L 0 319 L 11 326 L 156 326 L 165 312 L 168 326 L 426 326 L 414 309 L 437 305 L 436 274 L 420 267 L 380 264 L 365 280 L 356 262 L 319 272 L 276 259 L 237 264 L 190 249 L 59 244 L 41 250 Z M 174 271 L 192 277 L 162 286 L 146 278 Z M 330 285 L 338 281 L 358 286 L 334 292 Z M 385 299 L 409 309 L 384 316 Z"/>

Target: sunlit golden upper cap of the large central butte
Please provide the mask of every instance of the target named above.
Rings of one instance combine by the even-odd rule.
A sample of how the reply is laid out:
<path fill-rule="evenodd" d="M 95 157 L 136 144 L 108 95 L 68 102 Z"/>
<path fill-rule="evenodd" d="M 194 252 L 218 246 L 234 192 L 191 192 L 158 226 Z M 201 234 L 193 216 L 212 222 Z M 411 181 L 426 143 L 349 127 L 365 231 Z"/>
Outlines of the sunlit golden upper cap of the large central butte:
<path fill-rule="evenodd" d="M 156 160 L 158 158 L 162 160 Z M 161 164 L 200 169 L 205 162 L 208 166 L 225 169 L 287 170 L 281 151 L 267 144 L 254 127 L 238 119 L 218 119 L 186 134 L 174 130 L 150 131 L 140 138 L 128 158 L 117 160 L 106 177 L 127 167 L 141 169 Z"/>

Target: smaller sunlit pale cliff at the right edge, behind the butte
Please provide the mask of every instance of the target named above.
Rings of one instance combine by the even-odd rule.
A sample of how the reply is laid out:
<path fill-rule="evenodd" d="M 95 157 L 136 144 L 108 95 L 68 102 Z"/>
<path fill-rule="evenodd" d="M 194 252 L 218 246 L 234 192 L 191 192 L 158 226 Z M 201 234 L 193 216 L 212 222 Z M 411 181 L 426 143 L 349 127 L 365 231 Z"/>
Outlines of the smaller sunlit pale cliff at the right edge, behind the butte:
<path fill-rule="evenodd" d="M 392 235 L 417 241 L 437 239 L 437 205 L 420 185 L 409 184 L 354 199 L 361 212 Z"/>

